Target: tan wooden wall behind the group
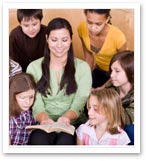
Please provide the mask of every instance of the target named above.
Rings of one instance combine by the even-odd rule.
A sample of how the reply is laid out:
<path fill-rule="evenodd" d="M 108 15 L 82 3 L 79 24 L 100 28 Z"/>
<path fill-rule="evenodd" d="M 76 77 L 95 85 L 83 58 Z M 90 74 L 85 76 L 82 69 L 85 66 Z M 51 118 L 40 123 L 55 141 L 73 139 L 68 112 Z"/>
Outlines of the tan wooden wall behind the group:
<path fill-rule="evenodd" d="M 73 47 L 75 56 L 84 58 L 82 45 L 77 34 L 77 25 L 85 20 L 82 9 L 44 9 L 42 23 L 47 25 L 54 17 L 63 17 L 69 20 L 73 28 Z M 126 38 L 128 49 L 134 50 L 134 10 L 132 9 L 113 9 L 111 10 L 112 24 L 121 29 Z M 16 9 L 9 10 L 9 31 L 18 25 Z"/>

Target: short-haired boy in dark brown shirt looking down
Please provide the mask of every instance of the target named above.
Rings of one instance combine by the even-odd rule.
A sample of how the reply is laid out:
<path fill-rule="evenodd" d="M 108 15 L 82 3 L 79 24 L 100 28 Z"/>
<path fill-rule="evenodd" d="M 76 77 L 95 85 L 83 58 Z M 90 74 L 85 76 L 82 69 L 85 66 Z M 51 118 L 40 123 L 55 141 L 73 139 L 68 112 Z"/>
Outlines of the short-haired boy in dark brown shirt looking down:
<path fill-rule="evenodd" d="M 10 57 L 25 72 L 28 64 L 43 56 L 46 42 L 46 26 L 41 24 L 42 9 L 18 9 L 19 26 L 9 36 Z"/>

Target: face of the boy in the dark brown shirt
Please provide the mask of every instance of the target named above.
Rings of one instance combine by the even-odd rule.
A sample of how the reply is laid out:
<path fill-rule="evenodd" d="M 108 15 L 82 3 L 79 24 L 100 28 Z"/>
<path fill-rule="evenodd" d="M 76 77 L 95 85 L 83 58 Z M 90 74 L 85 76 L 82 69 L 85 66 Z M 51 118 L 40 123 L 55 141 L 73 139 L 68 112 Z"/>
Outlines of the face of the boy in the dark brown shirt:
<path fill-rule="evenodd" d="M 22 31 L 30 38 L 34 38 L 40 31 L 41 22 L 39 19 L 31 18 L 29 21 L 26 21 L 24 18 L 20 23 Z"/>

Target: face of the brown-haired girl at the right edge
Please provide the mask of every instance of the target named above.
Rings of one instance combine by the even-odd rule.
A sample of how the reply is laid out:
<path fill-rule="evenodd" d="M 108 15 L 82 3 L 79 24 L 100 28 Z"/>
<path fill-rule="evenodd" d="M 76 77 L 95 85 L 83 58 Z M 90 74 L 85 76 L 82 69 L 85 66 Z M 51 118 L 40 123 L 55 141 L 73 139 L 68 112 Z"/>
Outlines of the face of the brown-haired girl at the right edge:
<path fill-rule="evenodd" d="M 115 61 L 111 65 L 111 80 L 114 86 L 122 87 L 129 83 L 124 69 L 121 67 L 119 61 Z"/>

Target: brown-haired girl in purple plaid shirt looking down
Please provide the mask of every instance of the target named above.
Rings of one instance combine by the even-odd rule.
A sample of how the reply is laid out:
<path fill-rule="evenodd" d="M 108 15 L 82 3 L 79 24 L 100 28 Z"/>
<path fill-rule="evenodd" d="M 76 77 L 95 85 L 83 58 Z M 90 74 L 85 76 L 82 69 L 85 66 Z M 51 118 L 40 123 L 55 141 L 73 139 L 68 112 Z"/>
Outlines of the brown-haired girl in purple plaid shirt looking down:
<path fill-rule="evenodd" d="M 9 136 L 11 145 L 28 144 L 30 131 L 25 127 L 36 124 L 31 106 L 35 98 L 35 83 L 26 73 L 13 76 L 9 94 Z"/>

